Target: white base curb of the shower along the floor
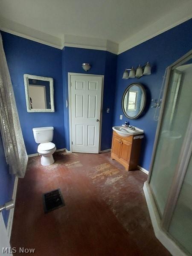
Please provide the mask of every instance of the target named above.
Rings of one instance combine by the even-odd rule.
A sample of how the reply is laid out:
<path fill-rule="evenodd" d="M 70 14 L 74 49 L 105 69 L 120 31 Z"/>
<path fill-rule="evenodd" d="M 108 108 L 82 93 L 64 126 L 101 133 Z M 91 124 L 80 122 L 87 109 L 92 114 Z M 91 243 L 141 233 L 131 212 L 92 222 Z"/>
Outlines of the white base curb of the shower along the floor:
<path fill-rule="evenodd" d="M 173 256 L 187 256 L 180 247 L 161 229 L 160 216 L 151 193 L 151 189 L 145 181 L 143 186 L 148 211 L 151 217 L 154 233 L 157 239 L 166 247 Z"/>

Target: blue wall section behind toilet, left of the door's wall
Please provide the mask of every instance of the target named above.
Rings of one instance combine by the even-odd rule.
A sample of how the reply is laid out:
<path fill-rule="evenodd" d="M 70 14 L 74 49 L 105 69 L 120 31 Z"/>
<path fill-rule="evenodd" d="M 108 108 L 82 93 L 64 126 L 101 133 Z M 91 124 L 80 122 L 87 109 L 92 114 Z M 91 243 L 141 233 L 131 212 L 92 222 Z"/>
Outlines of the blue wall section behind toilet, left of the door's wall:
<path fill-rule="evenodd" d="M 38 144 L 33 137 L 33 127 L 53 126 L 53 142 L 58 149 L 65 148 L 62 51 L 6 32 L 1 34 L 27 154 L 37 152 Z M 26 111 L 24 73 L 53 78 L 55 113 Z"/>

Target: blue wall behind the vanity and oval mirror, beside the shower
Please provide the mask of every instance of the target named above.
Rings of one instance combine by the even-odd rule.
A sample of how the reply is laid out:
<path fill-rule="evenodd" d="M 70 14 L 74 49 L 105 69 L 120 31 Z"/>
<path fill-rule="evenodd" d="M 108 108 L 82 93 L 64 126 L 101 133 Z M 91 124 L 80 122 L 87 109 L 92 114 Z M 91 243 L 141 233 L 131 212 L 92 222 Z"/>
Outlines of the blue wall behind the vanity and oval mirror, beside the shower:
<path fill-rule="evenodd" d="M 145 132 L 140 157 L 140 166 L 149 169 L 151 154 L 153 150 L 154 137 L 157 128 L 157 121 L 154 121 L 154 108 L 150 108 L 151 99 L 158 99 L 163 75 L 167 66 L 192 49 L 192 19 L 179 26 L 174 27 L 126 52 L 118 55 L 116 95 L 113 125 L 121 125 L 126 120 L 131 125 L 142 128 Z M 122 79 L 125 68 L 137 67 L 138 64 L 145 64 L 147 61 L 152 66 L 152 74 L 143 76 L 140 79 Z M 125 89 L 129 84 L 139 82 L 146 89 L 147 102 L 144 114 L 135 120 L 128 119 L 122 111 L 121 100 Z M 123 119 L 119 120 L 119 115 Z"/>

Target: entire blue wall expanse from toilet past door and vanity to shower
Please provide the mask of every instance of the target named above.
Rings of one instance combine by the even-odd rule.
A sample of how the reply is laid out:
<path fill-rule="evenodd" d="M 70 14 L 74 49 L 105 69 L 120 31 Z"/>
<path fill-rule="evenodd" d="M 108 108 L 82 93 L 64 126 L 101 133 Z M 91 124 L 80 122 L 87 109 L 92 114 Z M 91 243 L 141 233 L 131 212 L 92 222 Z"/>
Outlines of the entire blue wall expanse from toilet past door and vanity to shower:
<path fill-rule="evenodd" d="M 111 148 L 111 127 L 121 125 L 127 120 L 121 108 L 122 95 L 133 82 L 144 85 L 147 102 L 144 113 L 136 120 L 129 119 L 131 125 L 143 128 L 140 165 L 149 169 L 157 122 L 153 120 L 154 109 L 150 108 L 151 99 L 157 99 L 162 77 L 167 66 L 172 64 L 192 48 L 192 20 L 170 29 L 120 55 L 107 51 L 65 47 L 63 50 L 39 44 L 2 32 L 3 45 L 11 75 L 20 124 L 28 154 L 37 152 L 32 128 L 54 126 L 53 142 L 57 148 L 70 149 L 69 112 L 65 107 L 68 101 L 68 72 L 104 75 L 104 97 L 102 112 L 101 150 Z M 151 63 L 152 74 L 138 79 L 123 80 L 122 73 L 127 67 Z M 85 72 L 81 64 L 89 62 L 92 67 Z M 54 79 L 55 113 L 27 113 L 23 74 L 49 76 Z M 115 95 L 115 97 L 114 97 Z M 106 109 L 110 108 L 110 113 Z M 119 115 L 123 119 L 119 120 Z"/>

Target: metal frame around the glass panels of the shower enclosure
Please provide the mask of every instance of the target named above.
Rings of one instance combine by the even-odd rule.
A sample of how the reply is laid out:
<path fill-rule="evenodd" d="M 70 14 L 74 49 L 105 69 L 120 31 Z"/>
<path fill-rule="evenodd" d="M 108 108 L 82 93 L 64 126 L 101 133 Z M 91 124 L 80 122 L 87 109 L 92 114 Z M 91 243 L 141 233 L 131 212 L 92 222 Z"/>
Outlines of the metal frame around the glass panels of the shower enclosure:
<path fill-rule="evenodd" d="M 163 121 L 163 116 L 165 113 L 165 104 L 166 104 L 166 99 L 167 99 L 167 94 L 168 94 L 168 89 L 169 89 L 169 83 L 172 79 L 172 71 L 179 67 L 180 65 L 184 64 L 186 61 L 189 61 L 192 58 L 192 50 L 183 55 L 180 59 L 175 61 L 173 64 L 171 64 L 169 67 L 166 69 L 166 80 L 165 80 L 165 88 L 164 88 L 164 93 L 163 93 L 163 101 L 161 105 L 161 110 L 160 110 L 160 118 L 159 122 L 157 125 L 157 131 L 155 135 L 155 141 L 154 141 L 154 148 L 153 148 L 153 153 L 151 157 L 151 165 L 149 169 L 149 175 L 148 175 L 148 180 L 145 185 L 149 185 L 150 188 L 150 180 L 151 180 L 151 173 L 152 169 L 154 166 L 154 158 L 156 155 L 157 151 L 157 143 L 159 140 L 159 135 L 160 135 L 160 130 L 162 127 L 162 121 Z M 171 188 L 169 190 L 169 195 L 166 200 L 166 206 L 163 212 L 162 218 L 160 218 L 160 227 L 161 229 L 168 235 L 168 229 L 170 222 L 172 220 L 172 215 L 175 210 L 175 206 L 177 204 L 177 200 L 180 194 L 180 190 L 183 184 L 184 177 L 186 175 L 187 167 L 189 164 L 190 157 L 192 155 L 192 113 L 191 116 L 189 117 L 189 124 L 188 128 L 182 143 L 182 148 L 180 151 L 180 156 L 178 158 L 177 166 L 175 169 L 175 174 L 174 178 L 172 181 Z M 144 189 L 145 190 L 145 189 Z M 150 191 L 151 192 L 151 191 Z M 154 200 L 155 203 L 155 200 Z M 157 205 L 156 205 L 157 207 Z M 158 208 L 157 208 L 158 210 Z M 160 217 L 160 214 L 159 214 Z M 170 236 L 170 234 L 169 234 Z"/>

